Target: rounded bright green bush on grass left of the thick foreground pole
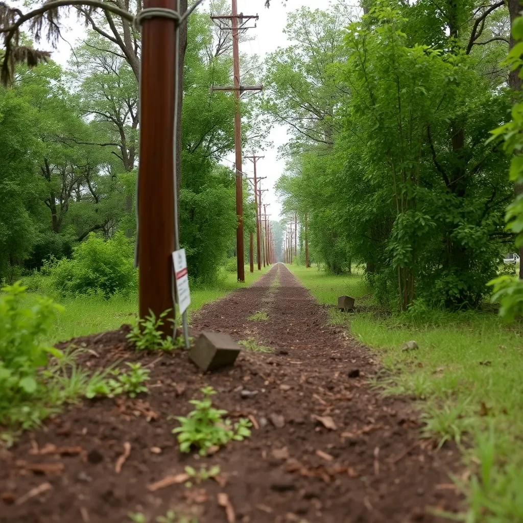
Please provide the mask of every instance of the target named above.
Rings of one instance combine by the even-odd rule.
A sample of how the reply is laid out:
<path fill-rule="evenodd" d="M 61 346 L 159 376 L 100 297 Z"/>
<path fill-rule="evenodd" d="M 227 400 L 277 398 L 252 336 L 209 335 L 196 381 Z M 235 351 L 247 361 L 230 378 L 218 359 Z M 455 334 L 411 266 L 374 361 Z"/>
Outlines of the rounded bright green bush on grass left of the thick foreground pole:
<path fill-rule="evenodd" d="M 108 298 L 137 285 L 133 247 L 123 233 L 109 240 L 90 234 L 75 246 L 71 259 L 62 258 L 47 270 L 53 287 L 64 296 L 99 294 Z"/>

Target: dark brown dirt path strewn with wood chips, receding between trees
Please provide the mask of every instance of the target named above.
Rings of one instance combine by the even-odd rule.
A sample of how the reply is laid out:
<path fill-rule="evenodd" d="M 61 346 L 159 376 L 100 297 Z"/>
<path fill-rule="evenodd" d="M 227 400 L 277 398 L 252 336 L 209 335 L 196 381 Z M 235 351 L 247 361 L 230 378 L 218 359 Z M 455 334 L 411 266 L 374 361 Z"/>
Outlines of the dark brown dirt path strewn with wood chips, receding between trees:
<path fill-rule="evenodd" d="M 262 309 L 266 320 L 247 319 Z M 369 351 L 326 322 L 325 311 L 281 264 L 254 286 L 204 307 L 193 321 L 197 331 L 254 338 L 274 353 L 245 352 L 234 368 L 210 375 L 184 353 L 142 357 L 152 370 L 148 396 L 70 408 L 0 453 L 0 521 L 112 523 L 130 521 L 133 511 L 153 522 L 177 509 L 194 511 L 199 523 L 222 523 L 228 517 L 219 493 L 228 494 L 238 523 L 428 522 L 438 518 L 427 507 L 459 508 L 448 477 L 458 452 L 434 452 L 431 442 L 421 442 L 410 404 L 369 387 L 367 377 L 378 370 Z M 99 356 L 86 357 L 92 368 L 137 359 L 124 331 L 76 343 Z M 359 377 L 349 377 L 357 371 Z M 204 384 L 217 390 L 215 404 L 231 417 L 251 416 L 259 428 L 197 459 L 179 453 L 170 417 L 189 412 L 188 400 Z M 124 442 L 130 455 L 117 473 Z M 82 452 L 38 455 L 47 444 Z M 31 470 L 35 463 L 51 467 L 42 476 Z M 225 482 L 147 490 L 200 464 L 220 465 Z M 47 492 L 20 503 L 44 483 Z"/>

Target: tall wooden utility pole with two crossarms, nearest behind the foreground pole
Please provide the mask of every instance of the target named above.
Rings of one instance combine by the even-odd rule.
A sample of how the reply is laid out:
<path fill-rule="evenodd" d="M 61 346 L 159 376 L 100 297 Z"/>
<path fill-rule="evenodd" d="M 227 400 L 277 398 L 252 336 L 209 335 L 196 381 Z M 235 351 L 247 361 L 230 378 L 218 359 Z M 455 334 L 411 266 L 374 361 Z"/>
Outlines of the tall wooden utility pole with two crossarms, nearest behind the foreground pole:
<path fill-rule="evenodd" d="M 236 98 L 236 111 L 234 114 L 234 148 L 236 151 L 236 215 L 238 217 L 238 226 L 236 228 L 236 256 L 237 256 L 237 276 L 238 281 L 245 281 L 244 267 L 244 245 L 243 245 L 243 165 L 242 165 L 242 115 L 240 113 L 240 97 L 244 91 L 260 91 L 261 85 L 244 86 L 240 82 L 240 30 L 250 29 L 245 27 L 246 22 L 255 19 L 258 15 L 238 16 L 238 2 L 232 0 L 231 16 L 211 16 L 212 20 L 220 22 L 230 22 L 230 25 L 220 24 L 220 29 L 232 31 L 232 54 L 234 61 L 234 85 L 233 86 L 211 86 L 213 91 L 234 91 Z M 255 26 L 256 27 L 256 26 Z"/>

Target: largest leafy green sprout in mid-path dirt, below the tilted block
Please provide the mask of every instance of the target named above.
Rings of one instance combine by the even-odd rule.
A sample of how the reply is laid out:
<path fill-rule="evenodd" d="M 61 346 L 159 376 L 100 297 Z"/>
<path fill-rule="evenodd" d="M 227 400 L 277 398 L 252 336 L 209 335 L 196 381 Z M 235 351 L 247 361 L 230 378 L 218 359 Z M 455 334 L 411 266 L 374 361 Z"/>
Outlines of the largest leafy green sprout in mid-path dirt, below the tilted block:
<path fill-rule="evenodd" d="M 252 426 L 246 418 L 240 418 L 232 423 L 225 418 L 227 411 L 214 408 L 211 396 L 216 391 L 210 387 L 201 389 L 203 400 L 191 400 L 189 403 L 196 408 L 187 416 L 178 416 L 175 419 L 180 423 L 173 429 L 178 434 L 178 443 L 182 452 L 190 452 L 192 447 L 199 449 L 200 456 L 206 456 L 211 447 L 221 447 L 231 440 L 242 441 L 251 436 Z"/>

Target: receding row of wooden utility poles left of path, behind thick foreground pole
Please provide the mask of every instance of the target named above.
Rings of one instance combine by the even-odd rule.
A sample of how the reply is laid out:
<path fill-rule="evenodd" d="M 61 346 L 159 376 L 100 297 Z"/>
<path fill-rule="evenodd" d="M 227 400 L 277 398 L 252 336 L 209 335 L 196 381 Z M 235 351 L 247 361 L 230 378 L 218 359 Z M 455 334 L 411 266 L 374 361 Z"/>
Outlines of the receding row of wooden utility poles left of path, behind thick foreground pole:
<path fill-rule="evenodd" d="M 261 91 L 262 85 L 241 85 L 240 78 L 240 31 L 252 29 L 246 24 L 250 20 L 258 20 L 258 15 L 238 15 L 237 0 L 232 0 L 231 16 L 220 15 L 211 16 L 212 20 L 218 21 L 222 31 L 232 31 L 232 49 L 234 62 L 234 85 L 232 86 L 211 86 L 213 91 L 233 91 L 236 99 L 236 110 L 234 113 L 234 149 L 236 157 L 236 215 L 238 225 L 236 228 L 236 262 L 238 281 L 245 281 L 245 248 L 244 248 L 244 226 L 243 226 L 243 158 L 242 158 L 242 116 L 240 112 L 240 98 L 245 91 Z M 254 26 L 256 27 L 256 26 Z M 261 270 L 261 259 L 263 255 L 263 265 L 274 263 L 274 245 L 272 245 L 272 233 L 270 224 L 267 225 L 268 204 L 263 204 L 265 214 L 265 238 L 261 228 L 261 194 L 265 190 L 261 189 L 260 179 L 257 178 L 256 163 L 263 156 L 247 156 L 254 163 L 254 199 L 256 203 L 256 251 L 258 270 Z M 253 233 L 249 235 L 249 264 L 251 272 L 254 272 L 254 253 L 253 253 Z"/>

